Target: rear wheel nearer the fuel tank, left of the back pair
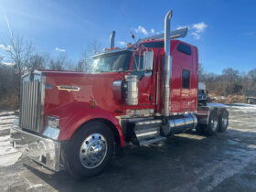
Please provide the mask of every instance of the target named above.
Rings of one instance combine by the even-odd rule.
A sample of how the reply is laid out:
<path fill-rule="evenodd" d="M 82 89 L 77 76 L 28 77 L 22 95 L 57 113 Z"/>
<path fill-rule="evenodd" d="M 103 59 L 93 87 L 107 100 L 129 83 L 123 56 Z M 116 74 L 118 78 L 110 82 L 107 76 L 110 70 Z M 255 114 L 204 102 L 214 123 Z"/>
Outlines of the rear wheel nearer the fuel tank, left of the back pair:
<path fill-rule="evenodd" d="M 214 135 L 218 132 L 218 111 L 216 109 L 209 113 L 208 124 L 206 125 L 205 133 L 208 135 Z"/>

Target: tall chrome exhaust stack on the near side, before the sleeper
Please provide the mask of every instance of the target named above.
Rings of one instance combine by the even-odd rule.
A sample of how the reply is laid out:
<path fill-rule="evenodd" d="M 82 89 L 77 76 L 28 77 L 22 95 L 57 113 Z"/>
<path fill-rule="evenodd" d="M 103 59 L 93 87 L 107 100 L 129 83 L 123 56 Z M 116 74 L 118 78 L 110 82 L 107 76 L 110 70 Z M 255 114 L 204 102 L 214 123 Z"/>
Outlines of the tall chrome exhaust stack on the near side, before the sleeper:
<path fill-rule="evenodd" d="M 164 66 L 164 109 L 162 115 L 168 117 L 170 114 L 170 74 L 172 69 L 172 57 L 170 55 L 171 40 L 171 18 L 173 10 L 171 9 L 165 16 L 165 66 Z"/>

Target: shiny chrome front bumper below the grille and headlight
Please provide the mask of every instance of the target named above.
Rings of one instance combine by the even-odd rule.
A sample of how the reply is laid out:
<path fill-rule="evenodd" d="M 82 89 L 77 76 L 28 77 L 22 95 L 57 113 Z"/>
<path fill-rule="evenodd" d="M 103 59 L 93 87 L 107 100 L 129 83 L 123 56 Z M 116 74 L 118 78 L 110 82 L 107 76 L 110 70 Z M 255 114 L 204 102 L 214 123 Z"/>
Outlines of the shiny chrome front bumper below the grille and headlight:
<path fill-rule="evenodd" d="M 60 143 L 52 139 L 28 133 L 15 125 L 11 129 L 11 144 L 24 155 L 45 165 L 49 169 L 59 171 Z"/>

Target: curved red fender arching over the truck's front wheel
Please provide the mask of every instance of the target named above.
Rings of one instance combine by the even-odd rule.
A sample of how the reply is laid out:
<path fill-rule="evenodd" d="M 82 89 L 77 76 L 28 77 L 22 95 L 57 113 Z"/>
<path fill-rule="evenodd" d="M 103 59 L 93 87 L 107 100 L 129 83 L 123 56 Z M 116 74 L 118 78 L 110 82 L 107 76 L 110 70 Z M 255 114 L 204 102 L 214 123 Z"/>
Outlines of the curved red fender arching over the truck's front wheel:
<path fill-rule="evenodd" d="M 104 119 L 114 124 L 119 133 L 120 144 L 121 146 L 124 146 L 122 128 L 112 113 L 102 110 L 99 107 L 91 108 L 88 102 L 79 102 L 76 104 L 75 108 L 73 103 L 72 107 L 68 107 L 68 109 L 66 107 L 65 113 L 66 117 L 63 117 L 63 120 L 67 119 L 67 121 L 60 127 L 59 141 L 69 140 L 73 133 L 75 133 L 83 123 L 93 119 Z"/>

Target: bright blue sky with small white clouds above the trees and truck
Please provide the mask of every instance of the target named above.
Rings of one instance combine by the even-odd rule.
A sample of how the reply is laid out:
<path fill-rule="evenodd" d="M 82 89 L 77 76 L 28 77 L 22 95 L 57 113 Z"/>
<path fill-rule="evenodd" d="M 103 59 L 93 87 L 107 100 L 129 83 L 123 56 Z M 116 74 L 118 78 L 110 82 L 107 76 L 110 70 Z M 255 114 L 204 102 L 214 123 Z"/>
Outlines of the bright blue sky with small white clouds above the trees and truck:
<path fill-rule="evenodd" d="M 0 48 L 10 37 L 6 15 L 12 31 L 31 40 L 38 52 L 67 54 L 76 62 L 93 39 L 109 46 L 112 29 L 119 47 L 133 42 L 131 29 L 136 38 L 162 32 L 170 8 L 172 28 L 189 27 L 182 40 L 197 46 L 199 62 L 208 72 L 256 68 L 253 0 L 0 0 Z"/>

